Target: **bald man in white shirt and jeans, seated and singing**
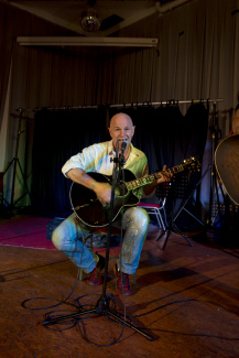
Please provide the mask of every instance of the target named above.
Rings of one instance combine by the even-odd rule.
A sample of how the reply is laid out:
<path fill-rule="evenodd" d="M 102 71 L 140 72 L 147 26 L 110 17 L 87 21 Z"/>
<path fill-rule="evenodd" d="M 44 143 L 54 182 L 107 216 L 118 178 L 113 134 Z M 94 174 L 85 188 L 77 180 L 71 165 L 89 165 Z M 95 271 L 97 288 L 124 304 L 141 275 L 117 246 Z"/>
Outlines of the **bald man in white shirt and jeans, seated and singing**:
<path fill-rule="evenodd" d="M 121 145 L 126 147 L 123 152 L 126 161 L 124 169 L 131 171 L 137 178 L 149 174 L 145 154 L 135 149 L 131 143 L 134 133 L 134 126 L 131 118 L 126 113 L 117 113 L 113 116 L 110 121 L 109 133 L 111 141 L 84 149 L 82 153 L 72 156 L 62 169 L 66 177 L 94 191 L 102 206 L 110 203 L 111 185 L 95 181 L 87 172 L 112 175 L 115 164 L 111 159 L 116 156 L 117 144 L 119 147 L 119 154 L 121 153 Z M 164 165 L 165 170 L 166 166 Z M 157 181 L 138 189 L 138 196 L 151 196 L 155 192 L 157 184 L 170 181 L 172 175 L 165 172 Z M 117 293 L 130 295 L 132 290 L 129 274 L 133 274 L 139 265 L 142 246 L 148 232 L 149 216 L 140 207 L 130 207 L 120 217 L 121 223 L 126 235 L 120 258 L 115 265 Z M 118 224 L 118 220 L 113 223 L 113 225 Z M 76 223 L 76 216 L 72 214 L 53 231 L 52 241 L 77 267 L 80 267 L 86 273 L 89 273 L 89 284 L 98 285 L 102 283 L 100 271 L 105 267 L 105 260 L 102 257 L 91 252 L 86 246 L 83 246 L 79 238 L 84 232 L 87 232 L 87 228 L 80 221 Z"/>

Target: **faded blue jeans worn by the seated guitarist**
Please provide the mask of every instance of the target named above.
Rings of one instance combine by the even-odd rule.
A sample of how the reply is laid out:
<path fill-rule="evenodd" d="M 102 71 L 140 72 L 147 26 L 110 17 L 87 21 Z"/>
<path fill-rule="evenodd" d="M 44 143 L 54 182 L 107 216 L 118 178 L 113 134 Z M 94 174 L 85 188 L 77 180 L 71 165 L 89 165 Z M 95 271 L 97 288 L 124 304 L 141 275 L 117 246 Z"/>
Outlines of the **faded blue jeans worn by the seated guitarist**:
<path fill-rule="evenodd" d="M 139 265 L 149 221 L 148 213 L 140 207 L 131 207 L 122 216 L 122 228 L 126 234 L 117 265 L 124 273 L 133 274 Z M 112 227 L 120 228 L 120 226 L 121 220 L 112 223 Z M 80 227 L 74 213 L 59 224 L 52 235 L 54 246 L 86 273 L 91 272 L 97 263 L 97 254 L 83 245 L 80 240 L 83 235 L 89 231 L 90 228 Z"/>

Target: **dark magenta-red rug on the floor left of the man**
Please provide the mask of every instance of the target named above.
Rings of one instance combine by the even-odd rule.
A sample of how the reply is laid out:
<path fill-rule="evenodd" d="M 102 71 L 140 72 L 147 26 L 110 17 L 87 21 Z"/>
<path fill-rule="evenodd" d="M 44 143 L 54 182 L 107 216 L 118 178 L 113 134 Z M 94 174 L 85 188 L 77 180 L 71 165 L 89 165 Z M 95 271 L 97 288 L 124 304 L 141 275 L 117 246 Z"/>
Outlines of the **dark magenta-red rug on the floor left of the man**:
<path fill-rule="evenodd" d="M 15 216 L 0 223 L 0 245 L 55 250 L 46 239 L 46 225 L 51 218 Z"/>

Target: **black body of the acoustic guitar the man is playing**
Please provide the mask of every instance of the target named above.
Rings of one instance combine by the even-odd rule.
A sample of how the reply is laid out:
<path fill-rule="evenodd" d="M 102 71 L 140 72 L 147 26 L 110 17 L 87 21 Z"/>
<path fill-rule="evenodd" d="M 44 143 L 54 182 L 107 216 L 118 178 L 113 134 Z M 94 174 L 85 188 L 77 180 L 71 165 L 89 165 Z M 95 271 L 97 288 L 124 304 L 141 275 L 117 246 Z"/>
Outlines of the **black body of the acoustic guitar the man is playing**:
<path fill-rule="evenodd" d="M 112 176 L 100 174 L 100 173 L 87 173 L 94 180 L 100 183 L 109 183 L 112 185 Z M 126 182 L 134 181 L 135 176 L 129 170 L 124 170 Z M 113 220 L 117 218 L 119 211 L 123 206 L 137 206 L 139 204 L 139 198 L 128 191 L 124 186 L 123 194 L 123 182 L 120 181 L 119 186 L 116 187 L 116 197 L 113 202 Z M 109 225 L 110 221 L 110 204 L 102 206 L 102 204 L 97 198 L 95 192 L 91 189 L 73 183 L 70 187 L 70 203 L 74 211 L 76 213 L 78 219 L 87 226 L 91 227 L 105 227 Z"/>

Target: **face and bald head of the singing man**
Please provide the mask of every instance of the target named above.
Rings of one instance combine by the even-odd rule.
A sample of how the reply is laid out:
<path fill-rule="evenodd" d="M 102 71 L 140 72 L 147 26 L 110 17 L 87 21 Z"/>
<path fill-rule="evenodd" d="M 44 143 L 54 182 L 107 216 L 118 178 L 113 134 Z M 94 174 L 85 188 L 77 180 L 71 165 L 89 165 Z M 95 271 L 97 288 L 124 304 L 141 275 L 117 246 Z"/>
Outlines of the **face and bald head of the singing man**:
<path fill-rule="evenodd" d="M 131 142 L 134 133 L 134 126 L 129 116 L 124 113 L 118 113 L 112 117 L 109 128 L 110 137 L 112 138 L 113 148 L 117 148 L 117 140 L 119 139 L 119 150 L 121 148 L 122 140 L 127 141 L 127 148 Z"/>

